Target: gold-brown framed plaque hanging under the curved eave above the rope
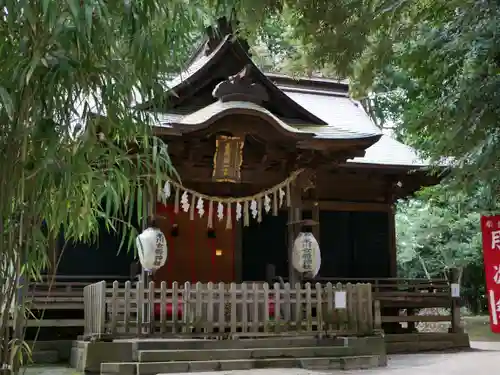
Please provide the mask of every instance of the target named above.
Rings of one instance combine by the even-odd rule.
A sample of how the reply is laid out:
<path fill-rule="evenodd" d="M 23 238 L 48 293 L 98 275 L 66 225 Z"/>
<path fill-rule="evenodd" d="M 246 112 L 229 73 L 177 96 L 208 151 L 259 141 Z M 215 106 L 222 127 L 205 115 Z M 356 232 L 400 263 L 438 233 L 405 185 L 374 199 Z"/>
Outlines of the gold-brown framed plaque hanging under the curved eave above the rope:
<path fill-rule="evenodd" d="M 216 182 L 240 182 L 243 163 L 241 137 L 217 136 L 212 178 Z"/>

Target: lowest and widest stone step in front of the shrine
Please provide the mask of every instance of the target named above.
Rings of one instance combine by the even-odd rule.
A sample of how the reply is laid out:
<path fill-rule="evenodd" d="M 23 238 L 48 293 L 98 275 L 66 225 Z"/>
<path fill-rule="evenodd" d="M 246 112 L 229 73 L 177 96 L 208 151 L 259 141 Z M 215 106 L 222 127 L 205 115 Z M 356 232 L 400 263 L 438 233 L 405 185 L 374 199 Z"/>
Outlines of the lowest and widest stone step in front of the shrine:
<path fill-rule="evenodd" d="M 322 358 L 261 358 L 215 361 L 122 362 L 101 364 L 101 375 L 157 375 L 179 372 L 303 368 L 355 370 L 380 366 L 377 355 Z"/>

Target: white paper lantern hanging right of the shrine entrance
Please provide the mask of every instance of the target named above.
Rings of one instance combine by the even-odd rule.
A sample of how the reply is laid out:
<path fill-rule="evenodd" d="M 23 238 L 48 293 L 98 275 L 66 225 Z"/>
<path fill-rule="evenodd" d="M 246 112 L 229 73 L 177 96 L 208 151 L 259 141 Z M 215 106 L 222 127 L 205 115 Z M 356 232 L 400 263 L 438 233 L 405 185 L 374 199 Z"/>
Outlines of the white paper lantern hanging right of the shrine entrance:
<path fill-rule="evenodd" d="M 312 233 L 301 232 L 293 243 L 292 265 L 300 273 L 315 277 L 321 267 L 321 252 Z"/>

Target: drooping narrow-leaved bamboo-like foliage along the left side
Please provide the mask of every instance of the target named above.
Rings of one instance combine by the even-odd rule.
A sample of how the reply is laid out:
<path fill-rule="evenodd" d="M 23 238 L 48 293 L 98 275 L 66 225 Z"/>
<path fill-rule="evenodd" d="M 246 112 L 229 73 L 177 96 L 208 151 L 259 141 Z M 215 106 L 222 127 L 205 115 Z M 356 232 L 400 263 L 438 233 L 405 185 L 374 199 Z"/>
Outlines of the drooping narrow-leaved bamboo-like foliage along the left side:
<path fill-rule="evenodd" d="M 134 103 L 185 61 L 201 5 L 0 1 L 1 364 L 19 346 L 8 337 L 9 312 L 23 313 L 16 280 L 39 275 L 60 231 L 92 240 L 104 220 L 132 233 L 133 208 L 142 219 L 146 193 L 173 173 L 154 116 Z"/>

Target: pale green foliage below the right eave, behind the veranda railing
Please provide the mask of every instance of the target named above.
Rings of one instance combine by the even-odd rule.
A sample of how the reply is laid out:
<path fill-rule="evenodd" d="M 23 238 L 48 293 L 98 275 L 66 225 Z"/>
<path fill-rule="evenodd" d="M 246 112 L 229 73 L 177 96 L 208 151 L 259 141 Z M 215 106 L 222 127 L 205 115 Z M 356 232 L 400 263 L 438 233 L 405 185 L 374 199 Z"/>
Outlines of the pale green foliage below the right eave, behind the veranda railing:
<path fill-rule="evenodd" d="M 469 307 L 484 307 L 484 270 L 480 213 L 486 205 L 484 189 L 456 193 L 439 185 L 401 201 L 396 215 L 398 272 L 401 277 L 446 277 L 460 271 L 463 295 Z M 486 194 L 488 196 L 488 194 Z"/>

